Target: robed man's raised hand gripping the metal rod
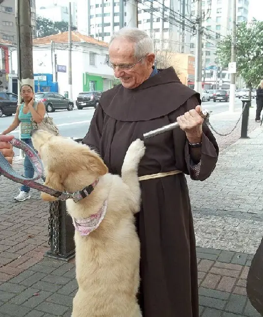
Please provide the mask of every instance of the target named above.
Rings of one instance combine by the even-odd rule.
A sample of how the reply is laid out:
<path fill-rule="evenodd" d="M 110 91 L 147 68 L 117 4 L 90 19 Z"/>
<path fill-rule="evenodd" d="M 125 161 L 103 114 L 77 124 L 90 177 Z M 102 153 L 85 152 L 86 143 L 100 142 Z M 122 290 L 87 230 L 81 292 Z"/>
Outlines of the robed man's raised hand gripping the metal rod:
<path fill-rule="evenodd" d="M 202 141 L 202 124 L 204 119 L 200 113 L 201 107 L 196 106 L 195 109 L 176 118 L 180 128 L 185 131 L 186 138 L 190 143 L 199 143 Z"/>

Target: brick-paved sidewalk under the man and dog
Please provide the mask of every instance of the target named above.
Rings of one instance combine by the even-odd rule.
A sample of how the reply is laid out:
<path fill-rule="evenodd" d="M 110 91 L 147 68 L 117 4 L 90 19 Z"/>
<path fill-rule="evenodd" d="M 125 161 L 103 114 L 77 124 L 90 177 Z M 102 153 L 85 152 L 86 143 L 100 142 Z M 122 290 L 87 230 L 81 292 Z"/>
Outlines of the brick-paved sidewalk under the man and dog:
<path fill-rule="evenodd" d="M 217 137 L 221 151 L 212 175 L 204 182 L 187 177 L 202 317 L 260 317 L 245 289 L 263 235 L 263 128 L 254 123 L 254 111 L 250 139 L 238 139 L 239 123 L 231 136 Z M 238 116 L 214 115 L 210 122 L 222 133 Z M 14 166 L 21 170 L 21 161 Z M 77 289 L 74 261 L 43 259 L 49 249 L 48 204 L 34 190 L 31 200 L 15 203 L 18 187 L 0 177 L 0 317 L 70 317 Z"/>

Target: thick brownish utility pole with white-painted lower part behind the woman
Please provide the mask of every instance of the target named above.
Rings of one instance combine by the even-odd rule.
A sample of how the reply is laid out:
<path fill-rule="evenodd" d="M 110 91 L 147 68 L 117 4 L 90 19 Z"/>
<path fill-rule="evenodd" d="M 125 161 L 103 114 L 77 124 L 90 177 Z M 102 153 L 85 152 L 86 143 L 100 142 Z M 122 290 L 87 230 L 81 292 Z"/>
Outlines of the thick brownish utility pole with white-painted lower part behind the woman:
<path fill-rule="evenodd" d="M 16 0 L 16 26 L 18 102 L 21 103 L 20 87 L 28 84 L 32 86 L 34 90 L 35 86 L 30 1 Z M 19 138 L 21 138 L 21 126 L 19 126 Z M 22 150 L 20 150 L 20 157 L 24 157 Z"/>

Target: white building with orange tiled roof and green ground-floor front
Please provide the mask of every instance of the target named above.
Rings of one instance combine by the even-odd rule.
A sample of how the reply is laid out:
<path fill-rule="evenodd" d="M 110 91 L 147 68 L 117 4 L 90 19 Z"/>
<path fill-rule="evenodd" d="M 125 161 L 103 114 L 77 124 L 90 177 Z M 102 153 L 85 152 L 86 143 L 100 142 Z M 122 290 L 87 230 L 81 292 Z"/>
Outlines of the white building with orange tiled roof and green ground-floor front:
<path fill-rule="evenodd" d="M 51 48 L 53 41 L 53 49 Z M 58 82 L 58 92 L 68 91 L 68 32 L 58 33 L 33 40 L 33 70 L 46 81 L 51 74 Z M 108 90 L 113 86 L 114 72 L 108 60 L 108 44 L 97 41 L 79 32 L 72 32 L 72 90 L 73 100 L 82 91 Z M 17 71 L 17 52 L 12 53 L 14 69 Z M 40 83 L 49 89 L 50 85 Z"/>

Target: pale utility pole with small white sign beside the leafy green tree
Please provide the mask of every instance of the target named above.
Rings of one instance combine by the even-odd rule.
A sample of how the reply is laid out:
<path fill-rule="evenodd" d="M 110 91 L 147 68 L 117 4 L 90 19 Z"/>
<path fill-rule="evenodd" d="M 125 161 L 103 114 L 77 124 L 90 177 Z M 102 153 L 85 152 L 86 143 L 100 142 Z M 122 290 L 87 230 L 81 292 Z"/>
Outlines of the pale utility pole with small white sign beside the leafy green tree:
<path fill-rule="evenodd" d="M 231 45 L 231 62 L 236 62 L 236 0 L 233 0 L 233 16 L 232 16 L 232 45 Z M 231 74 L 230 95 L 229 95 L 229 111 L 234 112 L 235 101 L 235 73 Z"/>

